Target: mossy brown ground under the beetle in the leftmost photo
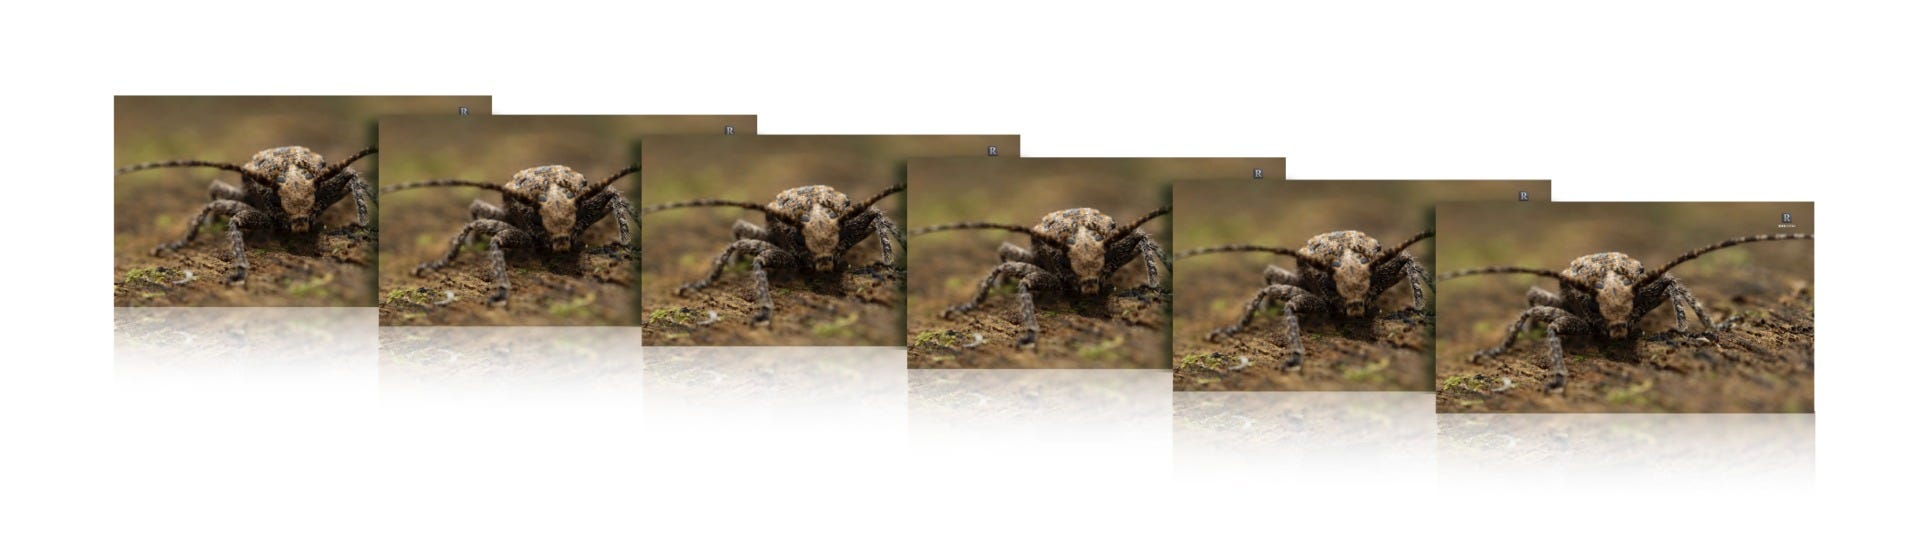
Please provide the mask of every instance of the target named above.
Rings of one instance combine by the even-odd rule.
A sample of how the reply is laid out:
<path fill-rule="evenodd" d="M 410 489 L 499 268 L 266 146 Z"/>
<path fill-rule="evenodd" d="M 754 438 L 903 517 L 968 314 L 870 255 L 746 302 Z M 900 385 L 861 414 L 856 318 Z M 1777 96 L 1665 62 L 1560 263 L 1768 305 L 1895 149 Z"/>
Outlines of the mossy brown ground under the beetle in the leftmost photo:
<path fill-rule="evenodd" d="M 368 163 L 370 159 L 363 159 Z M 363 167 L 361 163 L 355 169 Z M 178 240 L 207 204 L 207 173 L 146 171 L 121 177 L 113 208 L 113 306 L 370 306 L 372 242 L 367 234 L 246 236 L 246 284 L 226 284 L 232 248 L 226 221 L 209 219 L 194 242 Z M 225 179 L 234 183 L 234 179 Z M 324 231 L 353 223 L 353 200 L 326 209 Z M 192 279 L 188 279 L 192 273 Z M 184 282 L 182 282 L 184 281 Z"/>

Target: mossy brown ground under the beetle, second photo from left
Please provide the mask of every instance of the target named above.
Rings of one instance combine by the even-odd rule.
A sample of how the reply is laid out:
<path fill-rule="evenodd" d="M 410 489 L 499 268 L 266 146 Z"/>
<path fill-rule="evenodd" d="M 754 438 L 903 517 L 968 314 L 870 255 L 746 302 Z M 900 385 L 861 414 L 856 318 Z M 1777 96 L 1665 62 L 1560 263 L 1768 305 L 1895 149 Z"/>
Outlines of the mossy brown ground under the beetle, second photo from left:
<path fill-rule="evenodd" d="M 491 261 L 484 238 L 420 277 L 413 267 L 438 259 L 470 219 L 474 198 L 499 206 L 499 194 L 474 188 L 420 188 L 382 196 L 380 325 L 633 325 L 631 265 L 612 254 L 555 256 L 509 250 L 510 292 L 503 306 L 489 306 Z M 601 221 L 585 234 L 589 248 L 618 238 L 616 225 Z M 453 292 L 453 302 L 439 306 Z"/>

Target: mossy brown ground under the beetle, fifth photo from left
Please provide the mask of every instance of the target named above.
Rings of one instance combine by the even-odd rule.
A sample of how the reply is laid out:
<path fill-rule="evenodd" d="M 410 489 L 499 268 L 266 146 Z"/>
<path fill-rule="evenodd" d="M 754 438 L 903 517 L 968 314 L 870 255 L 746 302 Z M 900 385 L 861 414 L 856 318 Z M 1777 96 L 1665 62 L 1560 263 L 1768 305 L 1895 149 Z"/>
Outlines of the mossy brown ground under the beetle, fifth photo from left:
<path fill-rule="evenodd" d="M 1197 265 L 1219 259 L 1190 261 Z M 1278 307 L 1261 311 L 1238 334 L 1207 342 L 1207 334 L 1215 329 L 1238 321 L 1245 302 L 1263 286 L 1265 265 L 1238 259 L 1232 265 L 1184 267 L 1190 261 L 1180 261 L 1180 269 L 1203 271 L 1203 277 L 1182 275 L 1180 294 L 1213 300 L 1186 306 L 1192 311 L 1180 309 L 1173 327 L 1174 390 L 1426 390 L 1432 386 L 1430 325 L 1403 311 L 1384 311 L 1361 321 L 1326 313 L 1301 315 L 1305 365 L 1290 371 L 1280 369 L 1291 352 L 1284 344 L 1286 329 Z M 1401 284 L 1378 304 L 1410 306 L 1410 296 Z"/>

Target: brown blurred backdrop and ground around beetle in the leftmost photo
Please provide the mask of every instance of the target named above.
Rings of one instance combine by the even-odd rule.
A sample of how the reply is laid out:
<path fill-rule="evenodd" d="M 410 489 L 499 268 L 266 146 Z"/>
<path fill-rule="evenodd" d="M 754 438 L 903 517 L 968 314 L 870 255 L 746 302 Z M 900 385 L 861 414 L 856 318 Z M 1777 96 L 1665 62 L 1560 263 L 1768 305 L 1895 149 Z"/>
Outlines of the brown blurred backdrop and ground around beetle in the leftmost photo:
<path fill-rule="evenodd" d="M 388 113 L 491 113 L 489 96 L 115 96 L 113 167 L 205 159 L 246 163 L 255 152 L 305 146 L 328 161 L 372 146 Z M 378 184 L 380 156 L 353 163 Z M 215 179 L 242 186 L 230 171 L 148 169 L 113 179 L 113 306 L 372 306 L 374 259 L 367 240 L 322 236 L 320 252 L 288 254 L 269 236 L 249 236 L 246 286 L 228 286 L 225 221 L 209 221 L 192 244 L 150 252 L 186 234 L 209 202 Z M 368 217 L 372 217 L 368 213 Z M 326 209 L 324 229 L 351 225 L 353 200 Z M 178 282 L 184 271 L 194 281 Z"/>

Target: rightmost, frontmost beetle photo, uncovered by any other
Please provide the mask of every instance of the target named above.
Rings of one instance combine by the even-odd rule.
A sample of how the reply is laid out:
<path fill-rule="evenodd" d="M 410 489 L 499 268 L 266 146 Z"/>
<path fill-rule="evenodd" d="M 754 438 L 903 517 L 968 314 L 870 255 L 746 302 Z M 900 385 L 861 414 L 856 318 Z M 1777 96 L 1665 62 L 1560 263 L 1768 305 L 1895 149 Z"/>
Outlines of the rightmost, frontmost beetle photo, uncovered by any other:
<path fill-rule="evenodd" d="M 1812 413 L 1812 202 L 1439 204 L 1441 413 Z"/>

